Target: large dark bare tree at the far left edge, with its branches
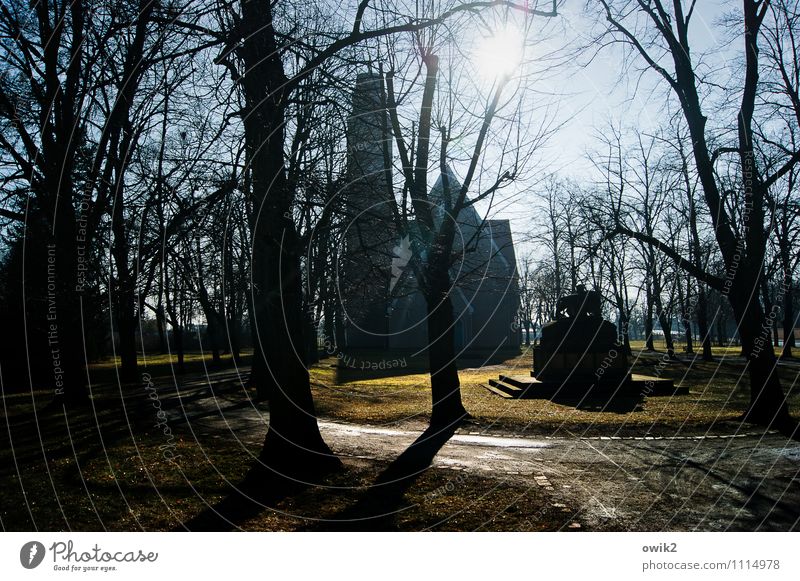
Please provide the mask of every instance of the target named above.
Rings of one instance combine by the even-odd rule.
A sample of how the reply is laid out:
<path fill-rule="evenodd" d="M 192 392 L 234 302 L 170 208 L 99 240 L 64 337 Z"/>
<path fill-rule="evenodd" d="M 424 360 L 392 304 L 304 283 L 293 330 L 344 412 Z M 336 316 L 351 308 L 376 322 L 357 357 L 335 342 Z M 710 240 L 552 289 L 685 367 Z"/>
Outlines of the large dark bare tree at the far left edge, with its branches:
<path fill-rule="evenodd" d="M 29 347 L 41 357 L 52 352 L 47 383 L 59 398 L 84 400 L 80 291 L 92 286 L 86 274 L 96 234 L 84 220 L 104 211 L 91 199 L 81 207 L 79 196 L 92 179 L 78 171 L 89 163 L 87 103 L 97 56 L 97 46 L 86 38 L 108 38 L 112 32 L 108 22 L 88 18 L 84 0 L 31 7 L 4 2 L 0 30 L 3 180 L 5 188 L 17 186 L 5 190 L 13 199 L 2 216 L 22 223 L 27 214 L 31 225 L 41 225 L 28 235 L 28 256 L 36 262 L 27 265 L 27 293 L 35 303 L 49 305 L 46 322 L 37 325 L 39 317 L 31 312 L 31 325 L 38 328 L 31 329 Z"/>

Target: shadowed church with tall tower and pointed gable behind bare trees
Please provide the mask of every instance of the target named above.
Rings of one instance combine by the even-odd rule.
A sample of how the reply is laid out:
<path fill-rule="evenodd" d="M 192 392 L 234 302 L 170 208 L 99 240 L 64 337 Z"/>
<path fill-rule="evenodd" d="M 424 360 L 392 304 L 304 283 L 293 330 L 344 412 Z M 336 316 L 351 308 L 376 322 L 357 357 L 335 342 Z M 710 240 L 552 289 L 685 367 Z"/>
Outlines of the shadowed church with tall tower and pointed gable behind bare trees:
<path fill-rule="evenodd" d="M 343 190 L 348 225 L 339 265 L 345 312 L 345 350 L 398 350 L 416 354 L 428 344 L 425 298 L 412 268 L 422 254 L 419 225 L 398 221 L 393 183 L 392 134 L 379 75 L 361 74 L 348 122 L 347 185 Z M 448 167 L 429 193 L 436 220 L 446 219 L 443 183 L 461 189 Z M 459 356 L 490 355 L 516 348 L 519 285 L 508 220 L 486 219 L 468 205 L 456 220 L 450 299 Z M 402 225 L 403 231 L 398 229 Z"/>

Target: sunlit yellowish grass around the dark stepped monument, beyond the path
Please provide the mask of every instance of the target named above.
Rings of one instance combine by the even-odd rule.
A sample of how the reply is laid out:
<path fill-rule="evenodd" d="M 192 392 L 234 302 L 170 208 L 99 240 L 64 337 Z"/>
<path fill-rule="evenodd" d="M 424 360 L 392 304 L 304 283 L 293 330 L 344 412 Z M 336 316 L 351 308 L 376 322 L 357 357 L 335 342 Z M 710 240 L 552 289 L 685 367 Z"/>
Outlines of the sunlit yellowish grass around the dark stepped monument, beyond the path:
<path fill-rule="evenodd" d="M 632 345 L 634 373 L 672 379 L 688 387 L 687 395 L 670 397 L 617 398 L 617 405 L 586 401 L 580 406 L 563 405 L 547 399 L 505 400 L 491 395 L 483 386 L 500 373 L 528 374 L 532 354 L 523 349 L 500 365 L 461 370 L 464 405 L 485 430 L 526 431 L 559 435 L 631 435 L 697 433 L 720 426 L 740 416 L 750 392 L 744 361 L 738 347 L 715 348 L 715 361 L 704 362 L 679 354 L 678 360 L 661 365 L 664 353 L 647 353 L 643 342 Z M 311 369 L 314 401 L 321 416 L 354 423 L 387 424 L 406 420 L 427 421 L 430 389 L 424 365 L 408 362 L 414 373 L 355 379 L 350 373 L 341 381 L 336 359 L 322 361 Z M 403 371 L 403 370 L 394 370 Z M 800 366 L 781 366 L 784 390 L 789 392 L 791 410 L 800 408 L 797 386 Z M 621 400 L 621 401 L 620 401 Z"/>

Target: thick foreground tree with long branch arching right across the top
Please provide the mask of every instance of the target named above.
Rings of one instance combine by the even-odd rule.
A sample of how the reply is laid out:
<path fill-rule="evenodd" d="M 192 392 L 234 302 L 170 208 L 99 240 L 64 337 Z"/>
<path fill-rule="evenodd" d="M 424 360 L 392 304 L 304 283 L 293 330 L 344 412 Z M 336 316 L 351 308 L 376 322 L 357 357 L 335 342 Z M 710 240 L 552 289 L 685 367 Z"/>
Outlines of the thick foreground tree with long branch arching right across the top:
<path fill-rule="evenodd" d="M 369 27 L 370 2 L 362 0 L 349 27 L 328 23 L 340 27 L 330 30 L 325 46 L 309 46 L 303 41 L 308 32 L 303 25 L 308 20 L 299 18 L 296 6 L 286 9 L 268 0 L 242 1 L 238 10 L 225 17 L 226 44 L 217 62 L 241 87 L 244 99 L 241 118 L 255 211 L 254 375 L 257 383 L 267 385 L 270 399 L 270 425 L 260 459 L 282 474 L 339 465 L 319 433 L 304 355 L 302 248 L 293 214 L 296 192 L 285 167 L 287 106 L 303 79 L 350 47 L 507 4 L 455 3 L 430 16 L 402 17 L 388 25 Z M 294 58 L 284 58 L 288 51 L 295 51 Z"/>

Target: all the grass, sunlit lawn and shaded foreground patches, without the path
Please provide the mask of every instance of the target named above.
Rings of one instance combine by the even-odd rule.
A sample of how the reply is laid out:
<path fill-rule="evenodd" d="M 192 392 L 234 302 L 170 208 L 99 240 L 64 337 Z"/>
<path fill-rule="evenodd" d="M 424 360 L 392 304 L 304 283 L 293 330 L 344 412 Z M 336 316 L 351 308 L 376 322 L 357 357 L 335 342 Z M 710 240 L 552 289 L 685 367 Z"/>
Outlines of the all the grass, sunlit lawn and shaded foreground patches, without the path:
<path fill-rule="evenodd" d="M 715 355 L 714 362 L 704 363 L 682 354 L 664 368 L 662 377 L 687 386 L 687 395 L 643 398 L 605 410 L 593 403 L 505 400 L 483 388 L 500 373 L 527 373 L 528 352 L 488 367 L 478 362 L 463 369 L 460 378 L 465 406 L 479 429 L 488 432 L 561 436 L 731 432 L 739 428 L 733 420 L 749 397 L 744 361 L 735 348 L 726 350 L 724 357 L 715 348 Z M 634 357 L 634 372 L 652 374 L 661 356 Z M 174 363 L 166 357 L 150 358 L 146 371 L 169 386 Z M 329 358 L 311 369 L 320 417 L 424 426 L 430 391 L 420 362 L 394 370 L 404 375 L 363 379 L 352 374 L 344 377 L 335 363 Z M 258 454 L 258 442 L 238 441 L 230 433 L 193 432 L 186 424 L 176 425 L 174 432 L 175 454 L 180 454 L 181 461 L 165 461 L 159 449 L 163 434 L 154 425 L 151 401 L 142 395 L 141 386 L 117 386 L 114 364 L 105 361 L 92 366 L 91 405 L 66 415 L 46 406 L 45 392 L 4 394 L 3 529 L 170 530 L 221 501 L 244 476 Z M 210 356 L 187 356 L 186 366 L 193 372 L 202 373 L 209 365 Z M 223 366 L 231 365 L 229 359 L 223 362 Z M 780 373 L 789 407 L 797 414 L 800 366 L 782 365 Z M 244 401 L 247 394 L 231 390 L 225 396 Z M 345 470 L 332 475 L 325 487 L 302 490 L 241 526 L 251 530 L 325 528 L 319 519 L 352 506 L 386 467 L 385 461 L 344 461 Z M 401 530 L 558 530 L 565 526 L 566 509 L 548 504 L 536 486 L 522 488 L 481 474 L 455 474 L 440 468 L 423 472 L 405 493 L 406 508 L 396 516 L 395 525 Z M 454 478 L 459 486 L 448 487 Z M 437 493 L 443 490 L 447 493 Z"/>

